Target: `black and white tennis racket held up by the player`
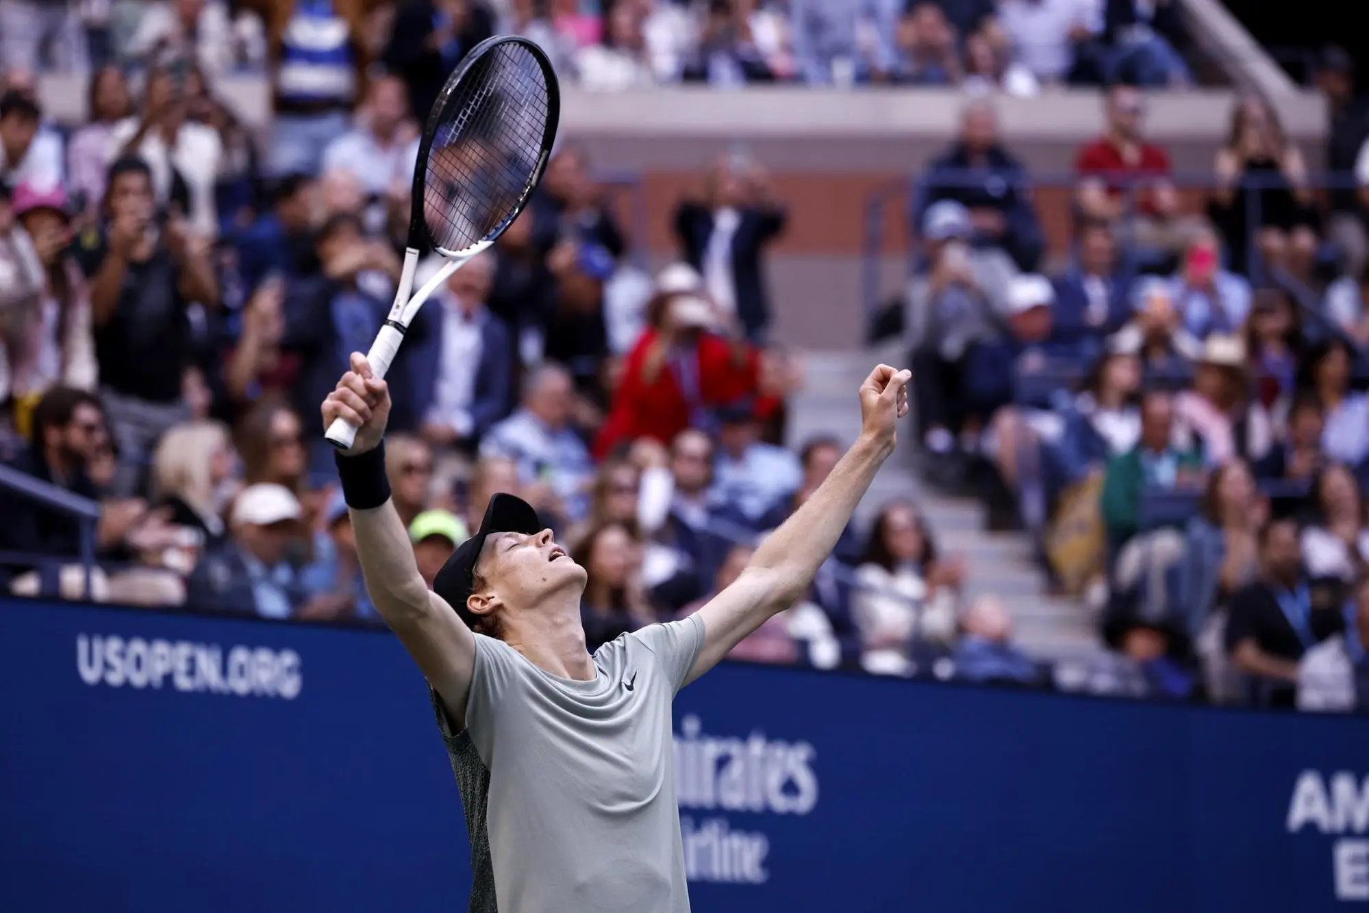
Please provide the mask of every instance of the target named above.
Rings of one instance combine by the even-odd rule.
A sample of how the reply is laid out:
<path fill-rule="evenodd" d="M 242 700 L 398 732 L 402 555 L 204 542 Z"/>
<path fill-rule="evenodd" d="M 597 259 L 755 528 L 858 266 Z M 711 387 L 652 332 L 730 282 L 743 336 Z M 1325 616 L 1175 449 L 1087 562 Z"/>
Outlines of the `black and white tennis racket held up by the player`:
<path fill-rule="evenodd" d="M 390 368 L 428 296 L 494 244 L 527 205 L 552 152 L 560 112 L 552 64 L 526 38 L 482 41 L 448 78 L 419 141 L 400 287 L 367 355 L 378 378 Z M 446 263 L 409 297 L 424 241 Z M 345 450 L 356 427 L 337 419 L 324 437 Z"/>

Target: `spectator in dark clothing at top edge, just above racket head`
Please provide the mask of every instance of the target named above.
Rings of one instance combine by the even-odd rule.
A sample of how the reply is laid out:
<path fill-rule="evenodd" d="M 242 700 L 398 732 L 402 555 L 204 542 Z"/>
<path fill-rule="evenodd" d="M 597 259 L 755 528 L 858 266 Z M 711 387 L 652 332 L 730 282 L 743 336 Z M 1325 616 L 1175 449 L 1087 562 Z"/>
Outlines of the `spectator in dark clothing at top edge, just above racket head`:
<path fill-rule="evenodd" d="M 494 34 L 479 0 L 407 0 L 385 48 L 385 66 L 409 90 L 409 110 L 427 118 L 442 83 L 471 48 Z"/>

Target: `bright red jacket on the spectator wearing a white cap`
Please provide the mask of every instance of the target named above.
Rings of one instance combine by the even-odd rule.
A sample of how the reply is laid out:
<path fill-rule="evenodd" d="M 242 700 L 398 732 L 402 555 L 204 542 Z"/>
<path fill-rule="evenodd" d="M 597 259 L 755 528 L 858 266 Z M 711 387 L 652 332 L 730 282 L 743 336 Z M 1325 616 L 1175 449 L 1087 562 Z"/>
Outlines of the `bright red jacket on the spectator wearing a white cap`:
<path fill-rule="evenodd" d="M 671 363 L 667 360 L 650 382 L 643 378 L 643 367 L 654 346 L 656 330 L 646 330 L 627 353 L 623 379 L 613 391 L 608 419 L 594 441 L 596 459 L 604 459 L 623 441 L 641 437 L 669 443 L 676 434 L 690 427 L 691 404 L 686 400 Z M 694 408 L 717 408 L 757 394 L 760 355 L 756 349 L 747 348 L 738 360 L 727 339 L 702 335 L 695 352 L 700 401 L 693 404 Z M 776 402 L 773 397 L 758 398 L 757 415 L 771 415 Z"/>

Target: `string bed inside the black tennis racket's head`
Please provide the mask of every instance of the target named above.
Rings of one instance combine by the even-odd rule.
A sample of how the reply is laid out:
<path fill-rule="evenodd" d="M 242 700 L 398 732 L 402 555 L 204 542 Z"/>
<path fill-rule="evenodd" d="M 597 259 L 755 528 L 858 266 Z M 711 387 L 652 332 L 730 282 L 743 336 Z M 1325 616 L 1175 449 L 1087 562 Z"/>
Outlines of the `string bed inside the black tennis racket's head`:
<path fill-rule="evenodd" d="M 424 166 L 433 242 L 464 250 L 498 234 L 535 183 L 548 120 L 546 75 L 515 42 L 493 48 L 439 100 Z"/>

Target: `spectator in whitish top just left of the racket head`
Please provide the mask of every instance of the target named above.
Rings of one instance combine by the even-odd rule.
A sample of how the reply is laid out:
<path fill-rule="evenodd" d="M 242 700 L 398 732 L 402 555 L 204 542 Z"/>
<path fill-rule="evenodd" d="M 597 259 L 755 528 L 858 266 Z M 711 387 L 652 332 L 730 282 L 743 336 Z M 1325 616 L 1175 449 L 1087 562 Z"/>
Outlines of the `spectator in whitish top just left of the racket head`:
<path fill-rule="evenodd" d="M 348 171 L 363 194 L 383 197 L 413 171 L 418 126 L 409 120 L 404 83 L 397 77 L 372 79 L 359 115 L 361 123 L 323 151 L 323 171 Z"/>

